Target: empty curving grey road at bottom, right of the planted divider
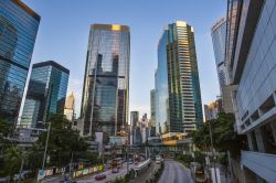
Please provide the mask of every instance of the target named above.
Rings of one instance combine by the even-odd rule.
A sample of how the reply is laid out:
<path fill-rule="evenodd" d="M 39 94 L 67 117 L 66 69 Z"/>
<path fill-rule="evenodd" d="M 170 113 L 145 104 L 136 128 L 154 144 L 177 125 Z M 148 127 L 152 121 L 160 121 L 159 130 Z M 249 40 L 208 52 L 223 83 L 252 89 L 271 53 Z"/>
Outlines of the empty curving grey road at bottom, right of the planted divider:
<path fill-rule="evenodd" d="M 164 170 L 158 183 L 193 183 L 191 172 L 181 163 L 164 160 Z"/>

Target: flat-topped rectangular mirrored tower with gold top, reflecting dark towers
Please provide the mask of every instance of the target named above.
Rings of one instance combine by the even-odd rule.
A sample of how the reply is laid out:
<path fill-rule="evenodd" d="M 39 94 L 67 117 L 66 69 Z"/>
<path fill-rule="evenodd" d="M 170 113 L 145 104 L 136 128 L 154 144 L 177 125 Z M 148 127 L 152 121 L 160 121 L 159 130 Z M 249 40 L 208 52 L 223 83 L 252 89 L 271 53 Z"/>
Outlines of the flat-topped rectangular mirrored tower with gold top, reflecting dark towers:
<path fill-rule="evenodd" d="M 129 52 L 128 26 L 91 26 L 81 110 L 84 136 L 117 136 L 127 123 Z"/>

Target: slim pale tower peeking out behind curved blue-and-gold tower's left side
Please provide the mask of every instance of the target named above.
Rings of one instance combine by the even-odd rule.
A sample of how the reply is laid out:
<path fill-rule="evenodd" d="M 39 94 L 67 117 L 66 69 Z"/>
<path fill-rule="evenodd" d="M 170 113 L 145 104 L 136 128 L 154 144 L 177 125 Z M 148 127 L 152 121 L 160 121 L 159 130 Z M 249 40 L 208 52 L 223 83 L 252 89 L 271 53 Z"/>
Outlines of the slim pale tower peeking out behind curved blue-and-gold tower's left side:
<path fill-rule="evenodd" d="M 150 90 L 150 137 L 156 136 L 156 89 Z"/>

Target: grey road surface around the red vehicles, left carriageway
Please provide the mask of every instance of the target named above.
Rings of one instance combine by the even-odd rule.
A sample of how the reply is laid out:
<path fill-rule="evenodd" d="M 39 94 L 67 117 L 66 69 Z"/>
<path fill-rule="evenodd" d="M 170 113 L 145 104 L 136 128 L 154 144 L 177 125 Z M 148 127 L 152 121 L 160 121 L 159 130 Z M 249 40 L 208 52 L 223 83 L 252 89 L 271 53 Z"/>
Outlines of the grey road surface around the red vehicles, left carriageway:
<path fill-rule="evenodd" d="M 135 168 L 136 165 L 134 164 L 129 164 L 129 170 Z M 127 163 L 124 163 L 123 169 L 120 169 L 120 171 L 118 173 L 113 173 L 112 170 L 108 170 L 106 172 L 103 172 L 106 175 L 106 179 L 103 181 L 96 181 L 95 176 L 96 175 L 92 175 L 92 176 L 86 176 L 84 179 L 78 180 L 78 183 L 105 183 L 108 181 L 113 181 L 116 177 L 120 177 L 120 176 L 125 176 L 127 174 Z"/>

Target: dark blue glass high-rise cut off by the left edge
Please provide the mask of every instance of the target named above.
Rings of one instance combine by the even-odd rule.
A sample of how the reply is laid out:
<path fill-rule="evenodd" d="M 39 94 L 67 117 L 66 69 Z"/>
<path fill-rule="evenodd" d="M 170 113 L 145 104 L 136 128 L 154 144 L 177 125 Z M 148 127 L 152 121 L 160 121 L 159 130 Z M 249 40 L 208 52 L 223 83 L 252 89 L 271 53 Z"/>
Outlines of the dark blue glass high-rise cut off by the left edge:
<path fill-rule="evenodd" d="M 20 0 L 0 1 L 0 118 L 17 122 L 40 15 Z"/>

